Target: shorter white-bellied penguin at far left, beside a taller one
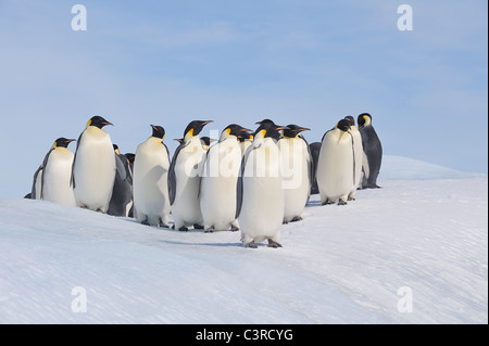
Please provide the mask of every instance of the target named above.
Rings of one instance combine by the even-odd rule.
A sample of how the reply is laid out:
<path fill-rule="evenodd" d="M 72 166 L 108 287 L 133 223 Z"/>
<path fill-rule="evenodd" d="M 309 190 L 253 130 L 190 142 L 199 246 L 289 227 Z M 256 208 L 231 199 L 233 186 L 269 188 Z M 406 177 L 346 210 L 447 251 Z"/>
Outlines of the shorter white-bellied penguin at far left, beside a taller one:
<path fill-rule="evenodd" d="M 54 141 L 42 162 L 40 198 L 58 204 L 76 206 L 70 185 L 73 153 L 67 145 L 75 141 L 61 137 Z"/>

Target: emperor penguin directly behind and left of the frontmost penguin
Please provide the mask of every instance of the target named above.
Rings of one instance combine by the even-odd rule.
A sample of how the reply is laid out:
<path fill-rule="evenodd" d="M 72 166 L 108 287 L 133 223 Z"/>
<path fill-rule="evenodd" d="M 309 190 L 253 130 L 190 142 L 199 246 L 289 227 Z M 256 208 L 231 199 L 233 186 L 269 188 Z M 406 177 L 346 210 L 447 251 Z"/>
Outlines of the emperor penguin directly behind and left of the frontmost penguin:
<path fill-rule="evenodd" d="M 239 230 L 236 219 L 236 185 L 241 166 L 238 136 L 250 131 L 237 124 L 228 125 L 218 143 L 211 146 L 200 182 L 200 209 L 205 232 Z"/>

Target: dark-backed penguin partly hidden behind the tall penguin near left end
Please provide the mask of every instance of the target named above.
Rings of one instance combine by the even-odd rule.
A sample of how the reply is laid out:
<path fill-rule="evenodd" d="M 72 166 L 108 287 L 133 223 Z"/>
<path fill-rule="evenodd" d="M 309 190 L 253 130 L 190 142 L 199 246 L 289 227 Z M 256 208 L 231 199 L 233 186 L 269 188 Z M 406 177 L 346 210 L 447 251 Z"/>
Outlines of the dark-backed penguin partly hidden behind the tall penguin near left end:
<path fill-rule="evenodd" d="M 129 210 L 133 207 L 133 174 L 129 167 L 129 159 L 126 155 L 121 154 L 117 144 L 113 144 L 115 152 L 115 159 L 124 166 L 126 179 L 122 179 L 121 174 L 116 171 L 114 188 L 112 189 L 112 197 L 109 203 L 106 214 L 112 216 L 128 217 Z"/>

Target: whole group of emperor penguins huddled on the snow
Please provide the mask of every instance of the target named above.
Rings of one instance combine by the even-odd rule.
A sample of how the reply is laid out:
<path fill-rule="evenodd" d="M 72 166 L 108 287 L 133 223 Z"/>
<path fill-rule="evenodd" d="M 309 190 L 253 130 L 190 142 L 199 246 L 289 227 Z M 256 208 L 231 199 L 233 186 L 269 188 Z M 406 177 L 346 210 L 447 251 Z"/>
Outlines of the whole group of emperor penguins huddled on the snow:
<path fill-rule="evenodd" d="M 309 128 L 264 119 L 254 132 L 230 124 L 210 145 L 200 137 L 209 123 L 188 124 L 171 159 L 163 127 L 151 125 L 135 154 L 121 154 L 103 130 L 112 124 L 93 116 L 74 154 L 74 139 L 54 141 L 26 197 L 164 228 L 172 214 L 172 229 L 240 230 L 242 244 L 255 248 L 263 241 L 281 247 L 280 225 L 302 220 L 311 194 L 344 205 L 358 189 L 378 188 L 381 144 L 368 113 L 359 128 L 347 116 L 311 144 L 302 134 Z"/>

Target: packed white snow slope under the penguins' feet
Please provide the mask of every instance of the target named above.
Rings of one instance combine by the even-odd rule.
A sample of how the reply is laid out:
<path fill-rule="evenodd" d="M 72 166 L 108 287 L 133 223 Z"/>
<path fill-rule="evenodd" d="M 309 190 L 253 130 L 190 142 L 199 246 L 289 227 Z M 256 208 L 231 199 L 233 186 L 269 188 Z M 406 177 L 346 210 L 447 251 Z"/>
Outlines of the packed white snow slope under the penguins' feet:
<path fill-rule="evenodd" d="M 488 323 L 487 176 L 385 156 L 378 182 L 283 248 L 0 200 L 0 323 Z"/>

